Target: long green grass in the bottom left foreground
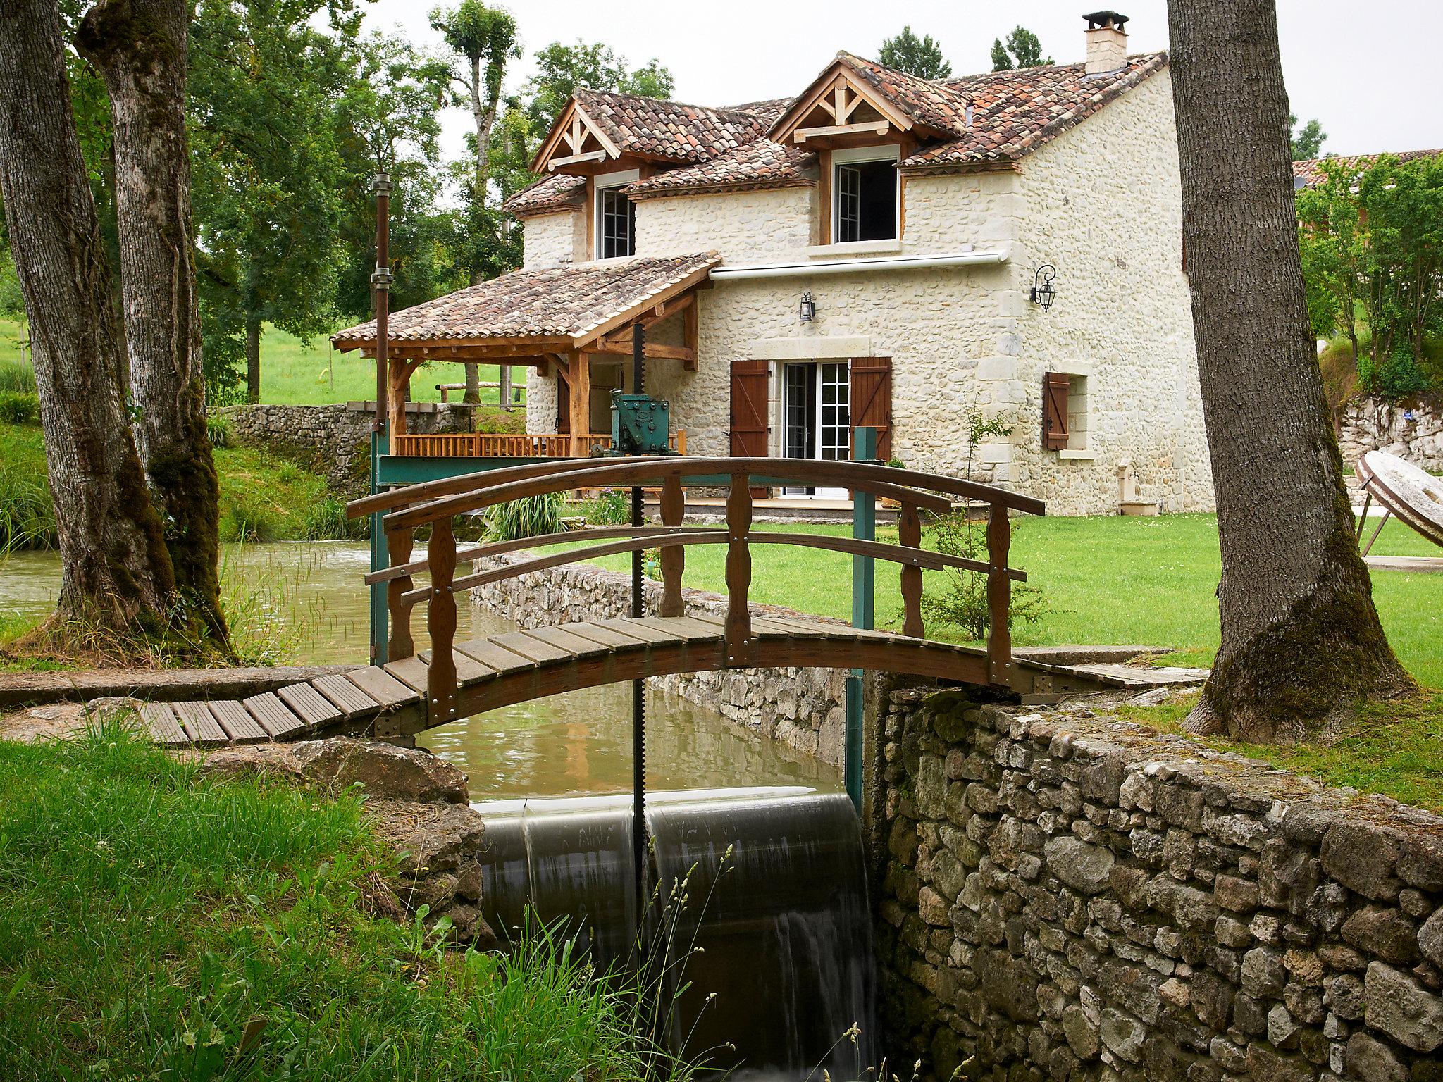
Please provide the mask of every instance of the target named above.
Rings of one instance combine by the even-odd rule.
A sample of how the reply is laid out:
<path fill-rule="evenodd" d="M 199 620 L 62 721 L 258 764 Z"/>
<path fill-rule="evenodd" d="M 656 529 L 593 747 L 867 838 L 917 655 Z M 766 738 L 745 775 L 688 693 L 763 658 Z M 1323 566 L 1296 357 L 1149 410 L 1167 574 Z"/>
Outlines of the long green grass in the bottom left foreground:
<path fill-rule="evenodd" d="M 359 795 L 214 780 L 111 726 L 0 742 L 0 1078 L 648 1076 L 560 944 L 444 952 L 375 916 Z"/>

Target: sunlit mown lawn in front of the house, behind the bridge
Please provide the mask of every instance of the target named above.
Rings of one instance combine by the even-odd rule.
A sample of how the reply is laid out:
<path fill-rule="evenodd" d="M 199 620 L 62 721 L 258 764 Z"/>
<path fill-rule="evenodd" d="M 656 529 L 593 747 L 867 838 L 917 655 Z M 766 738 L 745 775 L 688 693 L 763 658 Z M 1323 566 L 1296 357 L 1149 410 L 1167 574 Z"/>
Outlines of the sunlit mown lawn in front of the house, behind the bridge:
<path fill-rule="evenodd" d="M 850 535 L 850 525 L 769 527 L 792 532 Z M 882 540 L 896 531 L 879 529 Z M 1380 555 L 1443 555 L 1443 550 L 1390 521 L 1374 551 Z M 629 557 L 597 563 L 629 567 Z M 684 583 L 726 591 L 724 545 L 687 550 Z M 1170 664 L 1206 665 L 1218 648 L 1218 525 L 1214 515 L 1159 518 L 1013 519 L 1012 566 L 1039 587 L 1046 612 L 1014 629 L 1017 645 L 1134 643 L 1169 646 Z M 789 545 L 752 550 L 755 602 L 786 604 L 820 616 L 851 616 L 851 557 Z M 939 573 L 924 574 L 937 589 Z M 1429 687 L 1443 687 L 1443 574 L 1374 571 L 1374 599 L 1394 649 Z M 896 564 L 877 563 L 879 628 L 899 628 L 900 579 Z M 928 635 L 964 642 L 948 628 Z"/>

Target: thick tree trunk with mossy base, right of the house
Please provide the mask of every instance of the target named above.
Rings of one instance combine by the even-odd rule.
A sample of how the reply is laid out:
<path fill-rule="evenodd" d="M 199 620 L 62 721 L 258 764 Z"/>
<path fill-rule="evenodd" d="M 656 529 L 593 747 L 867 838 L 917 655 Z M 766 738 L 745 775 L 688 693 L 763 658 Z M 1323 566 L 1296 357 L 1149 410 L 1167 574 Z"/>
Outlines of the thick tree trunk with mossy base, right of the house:
<path fill-rule="evenodd" d="M 1222 645 L 1189 718 L 1315 737 L 1413 687 L 1378 623 L 1307 323 L 1273 0 L 1169 0 Z"/>

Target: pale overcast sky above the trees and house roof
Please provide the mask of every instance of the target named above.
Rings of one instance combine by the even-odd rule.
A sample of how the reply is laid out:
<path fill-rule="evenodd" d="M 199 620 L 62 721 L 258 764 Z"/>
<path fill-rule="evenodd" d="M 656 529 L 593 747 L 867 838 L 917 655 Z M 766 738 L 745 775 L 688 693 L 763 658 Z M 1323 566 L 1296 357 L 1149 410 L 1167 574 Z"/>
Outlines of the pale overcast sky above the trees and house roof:
<path fill-rule="evenodd" d="M 876 56 L 882 39 L 903 23 L 932 35 L 954 75 L 991 68 L 994 38 L 1019 22 L 1042 39 L 1043 55 L 1059 63 L 1082 59 L 1084 22 L 1095 10 L 1085 0 L 511 0 L 525 59 L 508 82 L 518 87 L 531 56 L 553 40 L 583 38 L 612 46 L 633 65 L 652 56 L 677 78 L 674 97 L 700 105 L 798 94 L 823 66 L 847 49 Z M 377 0 L 374 27 L 395 27 L 418 45 L 434 45 L 426 12 L 433 0 Z M 1325 151 L 1443 147 L 1437 78 L 1443 66 L 1440 0 L 1278 0 L 1283 75 L 1303 120 L 1317 117 L 1328 131 Z M 1128 52 L 1167 48 L 1163 0 L 1123 0 L 1131 16 Z M 466 117 L 446 118 L 447 153 L 460 151 Z"/>

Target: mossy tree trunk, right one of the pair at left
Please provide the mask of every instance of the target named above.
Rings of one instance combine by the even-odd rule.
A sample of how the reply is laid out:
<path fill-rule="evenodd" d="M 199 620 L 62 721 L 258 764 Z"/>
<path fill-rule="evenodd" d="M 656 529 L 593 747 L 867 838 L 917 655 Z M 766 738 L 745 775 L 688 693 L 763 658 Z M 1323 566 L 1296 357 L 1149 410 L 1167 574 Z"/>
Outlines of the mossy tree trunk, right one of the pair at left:
<path fill-rule="evenodd" d="M 76 46 L 105 79 L 115 120 L 126 348 L 146 480 L 166 521 L 176 589 L 205 636 L 228 649 L 190 225 L 189 19 L 186 0 L 101 0 Z"/>

